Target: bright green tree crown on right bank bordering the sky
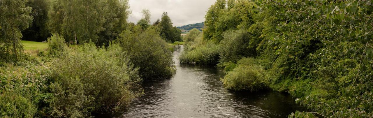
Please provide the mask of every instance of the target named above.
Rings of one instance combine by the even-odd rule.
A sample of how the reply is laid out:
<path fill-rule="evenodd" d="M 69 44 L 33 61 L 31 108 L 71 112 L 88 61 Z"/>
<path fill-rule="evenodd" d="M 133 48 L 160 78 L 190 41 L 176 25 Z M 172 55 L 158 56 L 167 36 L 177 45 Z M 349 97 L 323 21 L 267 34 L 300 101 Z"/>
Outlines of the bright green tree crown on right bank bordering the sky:
<path fill-rule="evenodd" d="M 206 13 L 203 38 L 219 42 L 225 31 L 250 27 L 253 7 L 249 0 L 217 0 Z"/>

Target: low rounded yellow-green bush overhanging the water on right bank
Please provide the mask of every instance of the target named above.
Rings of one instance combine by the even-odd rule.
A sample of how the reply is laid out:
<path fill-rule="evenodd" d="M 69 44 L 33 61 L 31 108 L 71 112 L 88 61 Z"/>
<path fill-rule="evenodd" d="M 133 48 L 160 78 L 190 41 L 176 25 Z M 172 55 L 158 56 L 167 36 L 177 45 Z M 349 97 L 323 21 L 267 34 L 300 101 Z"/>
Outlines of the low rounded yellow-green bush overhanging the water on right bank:
<path fill-rule="evenodd" d="M 266 71 L 253 58 L 239 60 L 237 67 L 221 80 L 225 88 L 236 91 L 257 91 L 268 86 Z"/>

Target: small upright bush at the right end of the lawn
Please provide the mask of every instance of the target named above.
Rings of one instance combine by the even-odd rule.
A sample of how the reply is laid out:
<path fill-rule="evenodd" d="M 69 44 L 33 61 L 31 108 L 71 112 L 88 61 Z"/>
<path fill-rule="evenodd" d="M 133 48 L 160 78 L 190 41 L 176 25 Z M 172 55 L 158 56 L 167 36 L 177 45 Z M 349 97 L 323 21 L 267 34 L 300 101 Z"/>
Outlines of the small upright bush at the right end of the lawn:
<path fill-rule="evenodd" d="M 61 56 L 66 51 L 65 39 L 59 34 L 52 34 L 48 38 L 48 52 L 51 56 Z"/>

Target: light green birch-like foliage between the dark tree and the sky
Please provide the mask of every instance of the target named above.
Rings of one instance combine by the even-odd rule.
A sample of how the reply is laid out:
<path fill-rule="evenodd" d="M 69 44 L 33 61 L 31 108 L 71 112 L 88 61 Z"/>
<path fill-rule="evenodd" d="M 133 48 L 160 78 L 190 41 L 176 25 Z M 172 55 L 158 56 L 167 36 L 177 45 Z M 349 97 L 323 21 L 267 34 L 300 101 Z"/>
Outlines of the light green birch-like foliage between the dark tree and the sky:
<path fill-rule="evenodd" d="M 128 0 L 52 0 L 51 4 L 51 32 L 76 44 L 108 46 L 125 29 L 130 13 Z"/>

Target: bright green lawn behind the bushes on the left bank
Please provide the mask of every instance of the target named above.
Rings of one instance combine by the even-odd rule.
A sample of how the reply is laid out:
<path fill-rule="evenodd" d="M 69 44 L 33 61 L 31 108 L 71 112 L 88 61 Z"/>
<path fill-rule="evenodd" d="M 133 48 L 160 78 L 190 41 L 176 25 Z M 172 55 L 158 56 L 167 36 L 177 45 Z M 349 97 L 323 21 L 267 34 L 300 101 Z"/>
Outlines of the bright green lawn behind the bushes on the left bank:
<path fill-rule="evenodd" d="M 43 50 L 48 48 L 47 43 L 35 42 L 35 41 L 21 41 L 25 52 L 34 52 L 37 50 Z"/>

